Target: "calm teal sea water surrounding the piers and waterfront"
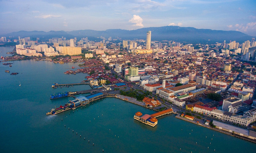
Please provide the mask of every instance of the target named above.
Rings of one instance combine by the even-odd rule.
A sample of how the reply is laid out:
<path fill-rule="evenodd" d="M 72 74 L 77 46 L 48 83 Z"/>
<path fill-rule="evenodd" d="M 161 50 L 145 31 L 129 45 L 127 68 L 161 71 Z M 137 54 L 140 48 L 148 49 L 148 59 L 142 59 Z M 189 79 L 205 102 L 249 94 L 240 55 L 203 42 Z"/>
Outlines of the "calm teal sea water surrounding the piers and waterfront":
<path fill-rule="evenodd" d="M 13 61 L 12 67 L 2 63 L 1 152 L 102 152 L 102 149 L 104 152 L 254 152 L 256 149 L 256 144 L 176 119 L 174 115 L 158 118 L 156 127 L 144 125 L 133 119 L 134 114 L 154 111 L 115 98 L 102 99 L 74 113 L 70 110 L 46 115 L 50 108 L 73 99 L 50 100 L 50 94 L 90 89 L 88 85 L 51 88 L 54 82 L 81 82 L 87 74 L 63 74 L 79 63 L 28 60 Z M 10 75 L 5 70 L 19 74 Z"/>

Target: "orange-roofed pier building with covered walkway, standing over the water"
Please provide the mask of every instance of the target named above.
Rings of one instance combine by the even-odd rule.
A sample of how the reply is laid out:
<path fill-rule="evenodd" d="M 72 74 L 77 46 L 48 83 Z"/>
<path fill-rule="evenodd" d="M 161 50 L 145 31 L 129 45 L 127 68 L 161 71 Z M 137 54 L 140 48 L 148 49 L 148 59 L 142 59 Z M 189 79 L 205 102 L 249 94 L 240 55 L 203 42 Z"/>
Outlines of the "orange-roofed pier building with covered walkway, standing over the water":
<path fill-rule="evenodd" d="M 160 117 L 160 116 L 163 116 L 163 115 L 166 115 L 166 114 L 171 114 L 171 113 L 174 113 L 173 109 L 167 109 L 167 110 L 157 112 L 157 113 L 152 114 L 152 115 L 145 114 L 143 116 L 142 116 L 141 112 L 137 112 L 134 115 L 134 119 L 136 119 L 136 120 L 138 120 L 138 121 L 140 121 L 144 124 L 147 124 L 147 125 L 150 125 L 150 126 L 154 127 L 158 123 L 158 120 L 156 119 L 157 117 Z"/>

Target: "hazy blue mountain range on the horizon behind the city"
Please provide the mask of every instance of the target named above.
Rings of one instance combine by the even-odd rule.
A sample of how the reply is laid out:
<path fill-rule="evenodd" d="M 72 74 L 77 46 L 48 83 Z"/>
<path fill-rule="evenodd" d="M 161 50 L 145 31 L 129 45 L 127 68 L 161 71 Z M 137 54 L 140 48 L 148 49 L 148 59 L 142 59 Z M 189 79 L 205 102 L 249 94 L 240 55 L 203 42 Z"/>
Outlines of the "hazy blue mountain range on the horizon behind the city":
<path fill-rule="evenodd" d="M 19 31 L 7 34 L 6 36 L 17 38 L 20 36 L 32 37 L 32 38 L 45 38 L 50 39 L 54 37 L 61 38 L 66 37 L 67 39 L 77 37 L 80 38 L 88 37 L 89 40 L 98 38 L 100 36 L 109 38 L 121 38 L 122 40 L 133 40 L 133 39 L 146 39 L 146 32 L 151 31 L 152 41 L 162 40 L 174 40 L 177 42 L 189 42 L 189 43 L 216 43 L 223 42 L 226 40 L 228 43 L 231 41 L 244 42 L 251 40 L 252 36 L 244 34 L 238 31 L 222 31 L 222 30 L 210 30 L 210 29 L 196 29 L 191 27 L 179 27 L 179 26 L 165 26 L 165 27 L 150 27 L 141 28 L 137 30 L 121 30 L 121 29 L 110 29 L 105 31 L 95 30 L 76 30 L 76 31 Z"/>

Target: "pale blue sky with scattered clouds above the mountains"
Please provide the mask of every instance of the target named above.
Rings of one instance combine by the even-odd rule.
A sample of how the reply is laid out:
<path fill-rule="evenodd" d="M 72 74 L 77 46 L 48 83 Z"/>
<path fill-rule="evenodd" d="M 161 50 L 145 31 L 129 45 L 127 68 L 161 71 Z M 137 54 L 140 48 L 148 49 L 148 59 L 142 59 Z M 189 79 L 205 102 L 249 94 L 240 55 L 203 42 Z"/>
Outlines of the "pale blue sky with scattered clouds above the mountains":
<path fill-rule="evenodd" d="M 256 36 L 255 0 L 0 0 L 0 34 L 178 25 Z"/>

